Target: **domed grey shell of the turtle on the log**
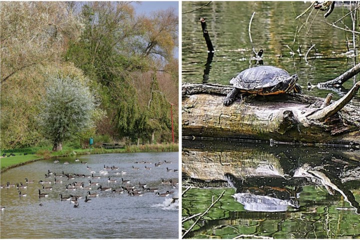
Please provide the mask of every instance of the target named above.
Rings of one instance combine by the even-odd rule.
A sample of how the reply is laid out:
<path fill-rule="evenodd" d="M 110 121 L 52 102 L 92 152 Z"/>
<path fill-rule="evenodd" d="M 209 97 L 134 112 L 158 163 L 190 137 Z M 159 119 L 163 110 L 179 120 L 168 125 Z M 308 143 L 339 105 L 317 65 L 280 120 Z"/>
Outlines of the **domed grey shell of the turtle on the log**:
<path fill-rule="evenodd" d="M 275 66 L 256 66 L 241 71 L 230 83 L 243 90 L 261 89 L 275 86 L 290 74 Z"/>

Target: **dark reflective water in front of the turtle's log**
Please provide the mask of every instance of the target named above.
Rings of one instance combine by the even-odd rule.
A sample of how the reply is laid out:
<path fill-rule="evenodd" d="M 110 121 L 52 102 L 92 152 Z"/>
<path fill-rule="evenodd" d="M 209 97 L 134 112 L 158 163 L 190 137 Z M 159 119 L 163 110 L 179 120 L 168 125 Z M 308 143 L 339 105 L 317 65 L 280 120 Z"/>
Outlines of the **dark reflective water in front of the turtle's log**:
<path fill-rule="evenodd" d="M 185 238 L 358 238 L 360 152 L 183 140 Z M 188 229 L 194 219 L 185 221 Z"/>

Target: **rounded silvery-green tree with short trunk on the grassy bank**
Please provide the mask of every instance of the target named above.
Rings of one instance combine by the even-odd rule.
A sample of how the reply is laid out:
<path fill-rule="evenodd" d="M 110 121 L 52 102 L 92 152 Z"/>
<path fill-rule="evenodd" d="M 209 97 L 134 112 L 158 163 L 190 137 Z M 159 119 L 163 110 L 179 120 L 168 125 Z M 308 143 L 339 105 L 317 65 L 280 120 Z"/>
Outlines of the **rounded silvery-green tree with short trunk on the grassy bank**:
<path fill-rule="evenodd" d="M 68 76 L 49 77 L 39 122 L 53 143 L 52 150 L 61 150 L 64 140 L 91 127 L 94 110 L 94 96 L 83 82 Z"/>

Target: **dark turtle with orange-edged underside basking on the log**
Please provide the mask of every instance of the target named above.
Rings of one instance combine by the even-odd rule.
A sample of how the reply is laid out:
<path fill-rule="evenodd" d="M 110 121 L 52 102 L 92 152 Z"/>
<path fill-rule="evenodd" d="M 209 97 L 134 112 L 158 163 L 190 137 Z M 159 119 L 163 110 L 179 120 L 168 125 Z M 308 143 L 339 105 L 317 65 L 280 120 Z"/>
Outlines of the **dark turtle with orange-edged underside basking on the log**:
<path fill-rule="evenodd" d="M 247 68 L 230 80 L 234 88 L 223 100 L 225 106 L 230 105 L 239 92 L 257 95 L 271 95 L 287 92 L 302 93 L 297 82 L 297 74 L 290 75 L 284 69 L 261 65 Z"/>

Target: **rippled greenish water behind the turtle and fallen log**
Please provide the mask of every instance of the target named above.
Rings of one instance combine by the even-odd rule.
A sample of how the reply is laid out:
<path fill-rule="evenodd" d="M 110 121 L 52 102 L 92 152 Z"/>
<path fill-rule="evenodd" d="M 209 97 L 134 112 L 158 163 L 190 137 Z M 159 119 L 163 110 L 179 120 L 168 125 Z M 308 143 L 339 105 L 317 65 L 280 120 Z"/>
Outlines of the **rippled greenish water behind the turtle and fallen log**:
<path fill-rule="evenodd" d="M 206 2 L 184 1 L 182 12 L 196 9 Z M 307 89 L 307 82 L 333 79 L 353 66 L 354 54 L 352 33 L 336 29 L 324 22 L 323 11 L 310 11 L 300 19 L 296 15 L 307 8 L 303 1 L 213 1 L 198 11 L 182 14 L 182 82 L 209 82 L 228 84 L 229 79 L 241 70 L 256 65 L 248 35 L 248 24 L 252 12 L 256 12 L 251 24 L 251 37 L 255 51 L 263 49 L 263 64 L 284 68 L 290 74 L 297 73 L 298 83 L 304 94 L 325 97 L 333 92 L 338 99 L 351 88 L 355 79 L 349 79 L 343 88 Z M 326 18 L 334 22 L 346 7 L 337 6 Z M 309 17 L 308 17 L 309 16 Z M 202 36 L 199 17 L 207 22 L 215 53 L 210 64 L 208 79 L 203 74 L 207 59 L 207 48 Z M 308 17 L 307 23 L 306 19 Z M 352 27 L 351 18 L 344 24 Z M 341 24 L 340 24 L 341 25 Z M 341 25 L 342 26 L 342 25 Z M 315 46 L 305 55 L 312 44 Z M 286 46 L 287 45 L 287 46 Z M 358 43 L 355 42 L 356 49 Z M 297 49 L 300 47 L 301 55 Z M 291 49 L 290 49 L 291 48 Z M 295 54 L 293 57 L 290 51 Z M 359 105 L 360 97 L 353 99 Z"/>

